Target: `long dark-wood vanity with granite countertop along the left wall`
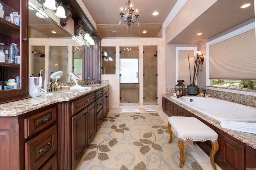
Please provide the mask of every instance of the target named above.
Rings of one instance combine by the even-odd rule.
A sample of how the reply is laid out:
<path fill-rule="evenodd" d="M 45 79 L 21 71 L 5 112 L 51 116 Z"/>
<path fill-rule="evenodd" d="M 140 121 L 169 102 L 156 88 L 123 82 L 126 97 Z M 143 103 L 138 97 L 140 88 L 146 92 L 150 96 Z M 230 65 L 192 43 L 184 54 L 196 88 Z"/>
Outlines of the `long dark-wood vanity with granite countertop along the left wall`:
<path fill-rule="evenodd" d="M 72 170 L 109 110 L 109 85 L 1 104 L 0 170 Z"/>

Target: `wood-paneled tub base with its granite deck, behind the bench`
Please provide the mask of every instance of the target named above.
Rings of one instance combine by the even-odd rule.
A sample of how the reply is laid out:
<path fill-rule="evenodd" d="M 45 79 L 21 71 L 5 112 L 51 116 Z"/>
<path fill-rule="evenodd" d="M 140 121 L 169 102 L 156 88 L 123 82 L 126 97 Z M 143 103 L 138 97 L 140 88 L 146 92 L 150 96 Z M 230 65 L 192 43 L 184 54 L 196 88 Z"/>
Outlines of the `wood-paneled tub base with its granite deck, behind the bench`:
<path fill-rule="evenodd" d="M 170 98 L 170 95 L 163 95 L 162 109 L 168 116 L 196 117 L 218 133 L 220 149 L 214 160 L 220 168 L 225 170 L 246 170 L 256 168 L 255 134 L 222 128 L 220 126 L 220 121 L 173 100 Z M 206 154 L 210 154 L 210 143 L 197 142 L 197 145 L 204 150 Z"/>

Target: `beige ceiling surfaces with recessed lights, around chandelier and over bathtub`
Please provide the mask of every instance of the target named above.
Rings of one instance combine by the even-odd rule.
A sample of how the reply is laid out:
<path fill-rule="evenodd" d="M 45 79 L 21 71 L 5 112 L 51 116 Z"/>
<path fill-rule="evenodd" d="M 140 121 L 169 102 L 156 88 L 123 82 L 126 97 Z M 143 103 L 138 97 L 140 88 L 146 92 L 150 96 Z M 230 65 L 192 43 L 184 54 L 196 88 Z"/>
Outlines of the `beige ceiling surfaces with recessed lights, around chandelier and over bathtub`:
<path fill-rule="evenodd" d="M 148 38 L 158 37 L 162 23 L 177 0 L 161 0 L 161 3 L 157 0 L 131 0 L 134 9 L 138 8 L 140 24 L 131 25 L 128 29 L 126 24 L 118 24 L 120 8 L 124 8 L 128 0 L 82 0 L 82 2 L 96 22 L 102 38 Z M 240 6 L 246 2 L 251 3 L 252 6 L 240 9 Z M 158 16 L 152 16 L 155 11 L 159 12 Z M 252 18 L 254 18 L 254 0 L 218 0 L 168 43 L 200 43 Z M 203 32 L 200 37 L 194 34 L 198 29 Z M 142 33 L 144 30 L 147 31 L 146 34 Z"/>

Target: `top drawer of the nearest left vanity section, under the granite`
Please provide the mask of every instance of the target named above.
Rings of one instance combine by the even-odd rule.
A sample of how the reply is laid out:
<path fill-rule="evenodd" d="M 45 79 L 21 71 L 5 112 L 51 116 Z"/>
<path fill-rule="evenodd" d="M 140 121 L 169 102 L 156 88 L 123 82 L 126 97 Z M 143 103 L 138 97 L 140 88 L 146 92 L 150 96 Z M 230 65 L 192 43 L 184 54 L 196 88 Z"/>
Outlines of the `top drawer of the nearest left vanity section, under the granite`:
<path fill-rule="evenodd" d="M 34 133 L 44 129 L 57 119 L 57 109 L 52 107 L 24 119 L 24 137 L 27 139 Z"/>

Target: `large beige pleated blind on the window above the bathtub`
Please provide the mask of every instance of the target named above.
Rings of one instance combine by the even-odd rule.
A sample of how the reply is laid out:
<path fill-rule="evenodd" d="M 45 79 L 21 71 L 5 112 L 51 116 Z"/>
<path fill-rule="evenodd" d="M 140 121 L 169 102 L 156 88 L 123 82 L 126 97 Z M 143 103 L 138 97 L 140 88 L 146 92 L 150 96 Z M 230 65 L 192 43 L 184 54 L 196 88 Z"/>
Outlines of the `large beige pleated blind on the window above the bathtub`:
<path fill-rule="evenodd" d="M 209 46 L 209 78 L 256 80 L 255 29 Z"/>

